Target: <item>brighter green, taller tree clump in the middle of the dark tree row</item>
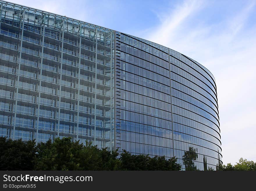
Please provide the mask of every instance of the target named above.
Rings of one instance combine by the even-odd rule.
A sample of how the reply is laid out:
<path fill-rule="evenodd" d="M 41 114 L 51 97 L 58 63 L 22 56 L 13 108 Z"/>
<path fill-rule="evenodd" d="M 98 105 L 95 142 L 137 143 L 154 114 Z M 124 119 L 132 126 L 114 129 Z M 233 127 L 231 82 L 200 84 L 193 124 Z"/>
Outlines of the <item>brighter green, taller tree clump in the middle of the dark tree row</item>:
<path fill-rule="evenodd" d="M 84 146 L 70 137 L 56 138 L 38 145 L 35 170 L 114 170 L 120 166 L 117 156 L 116 151 L 91 143 Z"/>

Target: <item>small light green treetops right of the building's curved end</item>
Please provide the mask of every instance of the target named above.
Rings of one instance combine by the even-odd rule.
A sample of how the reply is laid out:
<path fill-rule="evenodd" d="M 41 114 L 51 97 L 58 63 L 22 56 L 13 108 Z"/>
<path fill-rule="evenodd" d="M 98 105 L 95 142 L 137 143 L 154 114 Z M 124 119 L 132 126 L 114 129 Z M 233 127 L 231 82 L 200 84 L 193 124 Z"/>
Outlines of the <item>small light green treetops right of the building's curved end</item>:
<path fill-rule="evenodd" d="M 239 162 L 236 165 L 232 165 L 231 163 L 227 163 L 227 165 L 223 165 L 223 170 L 245 170 L 245 171 L 253 171 L 256 170 L 256 163 L 252 160 L 249 161 L 247 159 L 240 158 Z"/>

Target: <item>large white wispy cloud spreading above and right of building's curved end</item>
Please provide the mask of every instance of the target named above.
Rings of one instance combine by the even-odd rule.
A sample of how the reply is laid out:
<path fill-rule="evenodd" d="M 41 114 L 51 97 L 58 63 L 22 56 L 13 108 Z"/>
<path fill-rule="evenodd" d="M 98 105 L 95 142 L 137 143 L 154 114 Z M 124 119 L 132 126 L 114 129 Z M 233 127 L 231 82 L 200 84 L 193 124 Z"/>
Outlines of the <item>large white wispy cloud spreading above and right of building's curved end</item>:
<path fill-rule="evenodd" d="M 252 136 L 256 133 L 256 22 L 247 27 L 252 22 L 255 2 L 214 24 L 204 18 L 205 9 L 214 12 L 210 6 L 206 2 L 184 1 L 173 12 L 163 13 L 167 15 L 165 19 L 160 19 L 157 29 L 146 38 L 186 54 L 213 73 L 223 162 L 235 163 L 240 157 L 256 160 Z"/>

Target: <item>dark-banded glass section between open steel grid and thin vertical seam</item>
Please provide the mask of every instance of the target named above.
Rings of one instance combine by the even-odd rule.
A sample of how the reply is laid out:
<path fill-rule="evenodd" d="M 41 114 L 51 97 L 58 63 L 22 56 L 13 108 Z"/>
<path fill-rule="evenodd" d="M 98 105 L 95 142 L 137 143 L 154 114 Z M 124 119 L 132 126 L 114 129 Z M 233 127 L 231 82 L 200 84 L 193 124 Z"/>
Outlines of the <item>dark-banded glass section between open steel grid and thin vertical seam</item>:
<path fill-rule="evenodd" d="M 173 157 L 168 48 L 116 33 L 116 49 L 116 146 Z"/>

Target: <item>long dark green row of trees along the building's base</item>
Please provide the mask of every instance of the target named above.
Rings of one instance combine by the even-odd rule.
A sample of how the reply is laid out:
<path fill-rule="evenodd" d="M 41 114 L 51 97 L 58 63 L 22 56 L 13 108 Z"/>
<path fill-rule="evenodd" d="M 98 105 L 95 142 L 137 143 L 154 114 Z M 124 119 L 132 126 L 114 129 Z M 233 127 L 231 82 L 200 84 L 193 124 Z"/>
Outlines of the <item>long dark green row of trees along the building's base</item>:
<path fill-rule="evenodd" d="M 180 170 L 177 158 L 131 155 L 124 151 L 98 149 L 72 138 L 55 138 L 36 146 L 35 140 L 0 137 L 0 170 Z"/>

